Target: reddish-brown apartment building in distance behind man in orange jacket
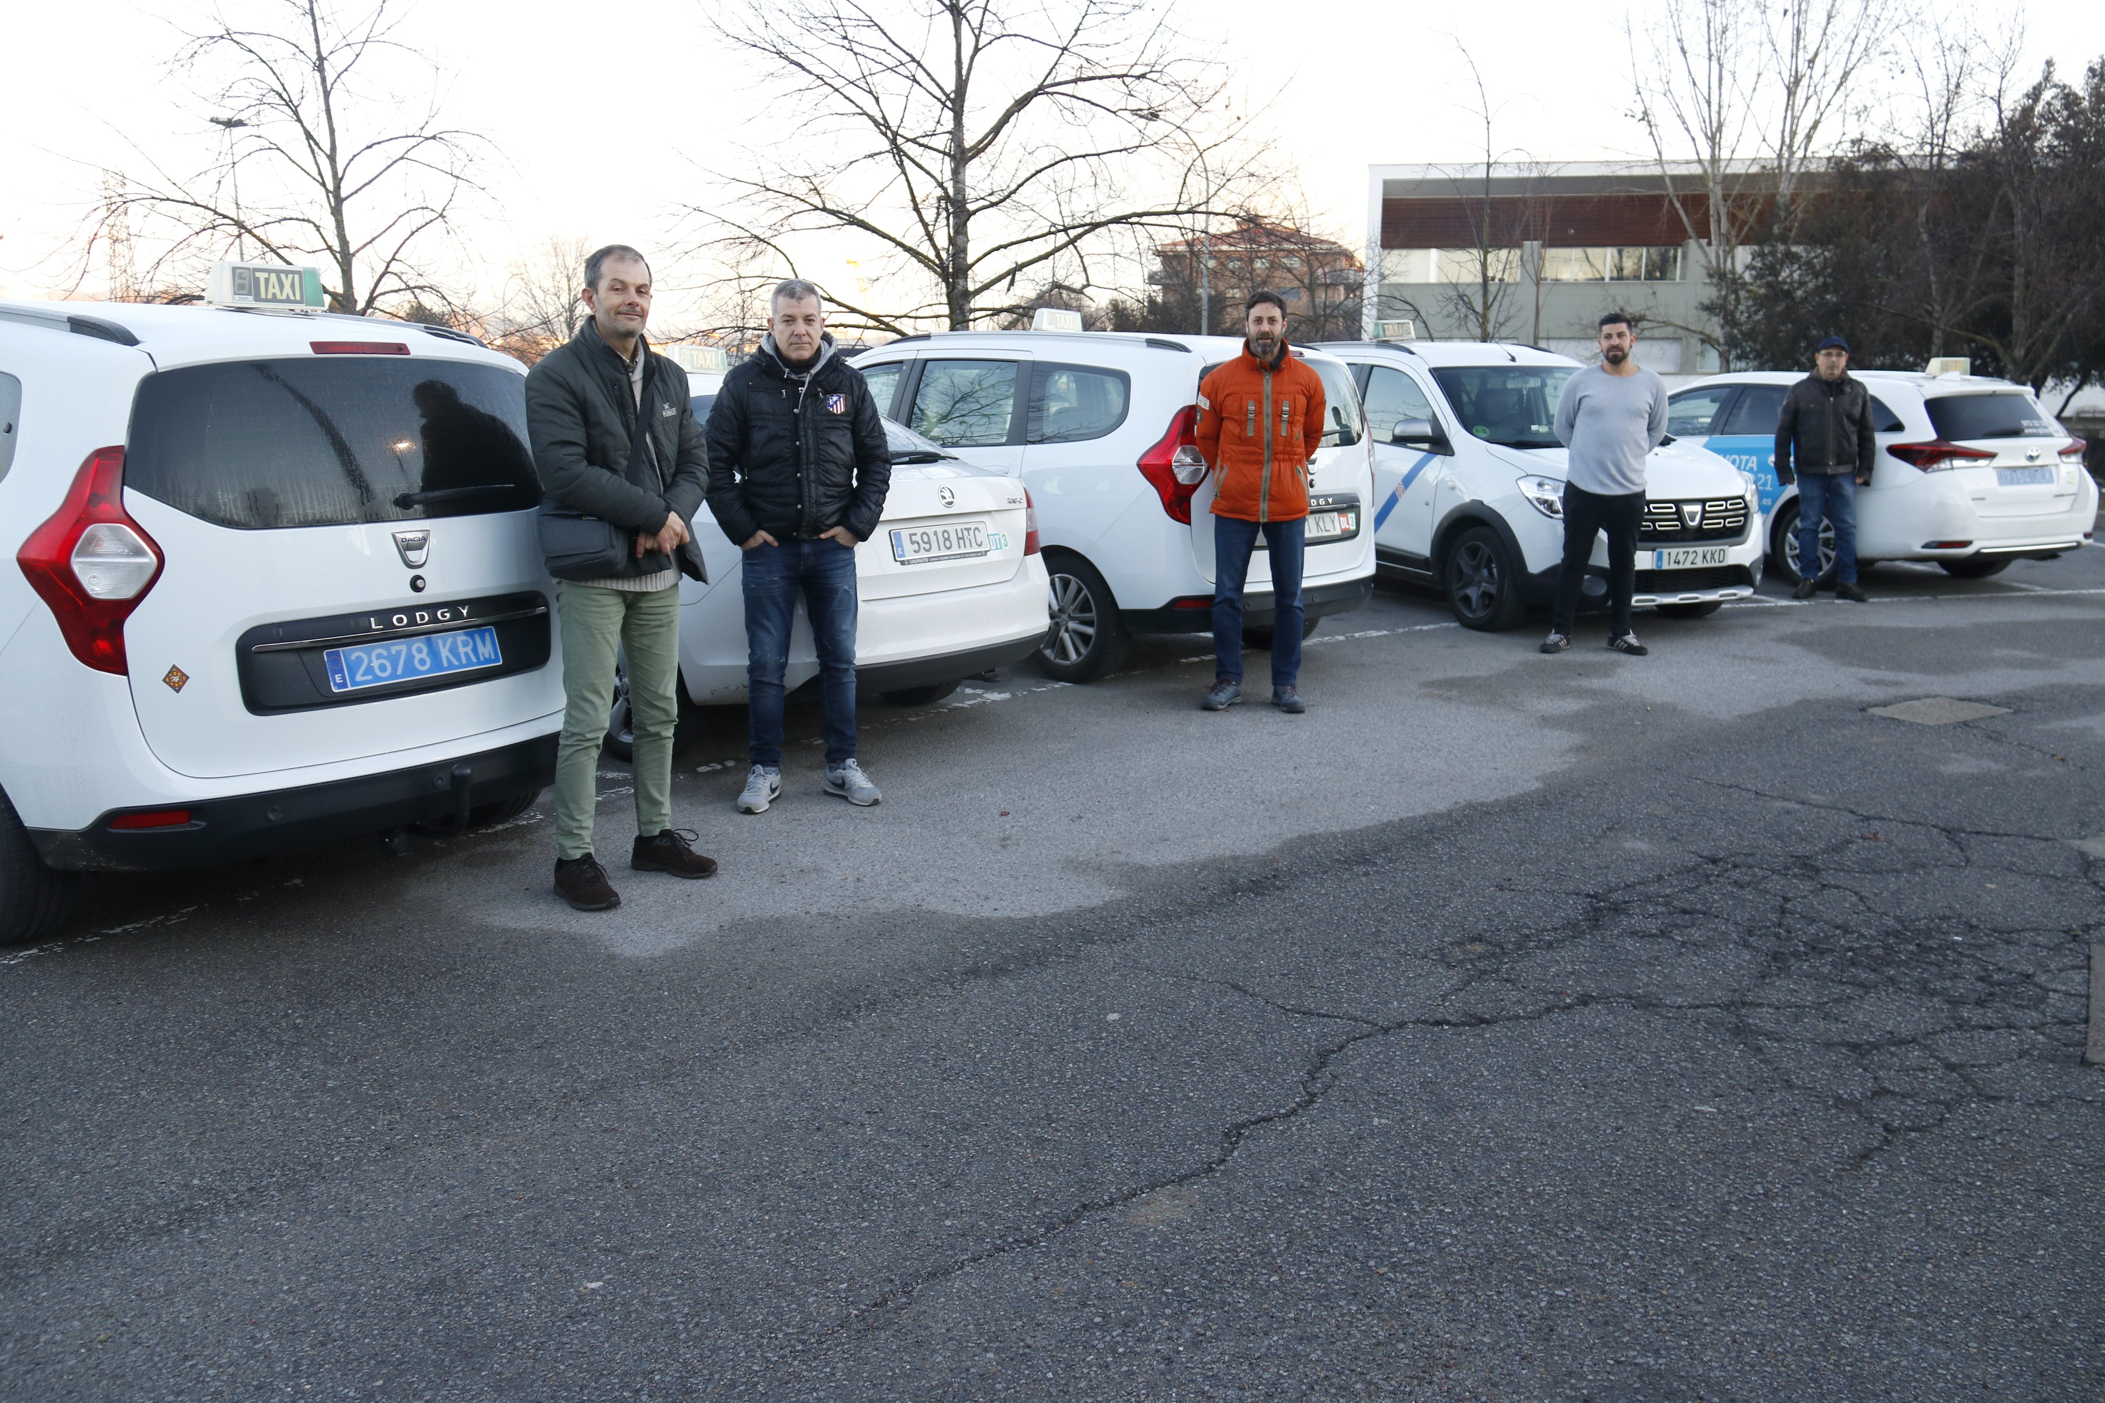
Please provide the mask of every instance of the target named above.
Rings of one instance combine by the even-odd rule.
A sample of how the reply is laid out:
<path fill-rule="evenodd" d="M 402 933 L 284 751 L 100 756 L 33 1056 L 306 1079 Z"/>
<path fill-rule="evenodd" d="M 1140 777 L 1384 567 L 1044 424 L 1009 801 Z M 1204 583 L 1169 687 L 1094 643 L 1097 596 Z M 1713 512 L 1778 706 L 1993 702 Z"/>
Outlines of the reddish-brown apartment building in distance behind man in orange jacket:
<path fill-rule="evenodd" d="M 1227 229 L 1158 244 L 1156 261 L 1160 267 L 1147 273 L 1147 282 L 1162 288 L 1166 299 L 1196 307 L 1200 290 L 1210 292 L 1210 330 L 1240 328 L 1242 301 L 1269 288 L 1286 301 L 1295 337 L 1322 341 L 1358 334 L 1366 269 L 1337 240 L 1261 219 L 1238 219 Z"/>

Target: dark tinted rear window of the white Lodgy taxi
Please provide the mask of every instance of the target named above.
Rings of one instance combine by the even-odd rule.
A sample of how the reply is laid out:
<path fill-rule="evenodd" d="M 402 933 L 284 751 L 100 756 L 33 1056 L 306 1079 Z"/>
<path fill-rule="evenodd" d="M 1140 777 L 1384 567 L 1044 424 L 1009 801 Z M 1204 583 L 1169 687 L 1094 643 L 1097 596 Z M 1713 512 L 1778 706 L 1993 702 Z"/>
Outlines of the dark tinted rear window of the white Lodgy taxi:
<path fill-rule="evenodd" d="M 238 530 L 520 511 L 541 501 L 524 387 L 442 360 L 179 366 L 139 383 L 124 486 Z"/>

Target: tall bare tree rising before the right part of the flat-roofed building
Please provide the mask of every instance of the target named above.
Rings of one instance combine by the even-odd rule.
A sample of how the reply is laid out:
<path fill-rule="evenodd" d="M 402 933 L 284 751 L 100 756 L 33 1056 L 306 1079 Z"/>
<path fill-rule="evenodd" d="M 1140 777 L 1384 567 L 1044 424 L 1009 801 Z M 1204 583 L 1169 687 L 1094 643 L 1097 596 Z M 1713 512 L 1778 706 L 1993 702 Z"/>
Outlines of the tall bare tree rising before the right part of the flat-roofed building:
<path fill-rule="evenodd" d="M 1741 250 L 1772 221 L 1789 233 L 1808 175 L 1844 143 L 1850 95 L 1886 53 L 1899 2 L 1665 0 L 1642 55 L 1638 29 L 1627 29 L 1636 116 L 1667 200 L 1699 244 L 1720 322 L 1735 320 Z M 1692 177 L 1678 170 L 1682 160 Z M 1726 364 L 1716 328 L 1678 330 Z"/>

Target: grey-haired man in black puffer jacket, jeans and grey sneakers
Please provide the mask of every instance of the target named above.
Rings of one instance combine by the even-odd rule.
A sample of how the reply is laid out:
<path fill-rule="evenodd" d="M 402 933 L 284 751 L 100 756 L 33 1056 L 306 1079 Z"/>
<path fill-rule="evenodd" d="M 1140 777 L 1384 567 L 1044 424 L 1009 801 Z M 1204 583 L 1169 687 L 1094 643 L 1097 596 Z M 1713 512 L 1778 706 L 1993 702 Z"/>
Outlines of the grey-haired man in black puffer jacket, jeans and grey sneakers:
<path fill-rule="evenodd" d="M 834 355 L 819 288 L 775 288 L 760 351 L 724 377 L 709 410 L 709 511 L 745 549 L 745 703 L 751 772 L 739 810 L 783 789 L 783 673 L 804 593 L 819 648 L 825 791 L 882 795 L 855 759 L 855 547 L 878 530 L 893 484 L 884 421 L 861 370 Z"/>

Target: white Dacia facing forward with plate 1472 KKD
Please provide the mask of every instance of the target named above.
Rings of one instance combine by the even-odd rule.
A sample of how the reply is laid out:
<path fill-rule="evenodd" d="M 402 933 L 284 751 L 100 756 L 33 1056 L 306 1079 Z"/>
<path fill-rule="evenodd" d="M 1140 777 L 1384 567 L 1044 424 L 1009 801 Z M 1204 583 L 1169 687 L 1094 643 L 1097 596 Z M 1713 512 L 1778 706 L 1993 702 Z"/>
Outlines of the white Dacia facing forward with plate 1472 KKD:
<path fill-rule="evenodd" d="M 1385 574 L 1440 589 L 1469 629 L 1509 629 L 1556 593 L 1566 450 L 1553 421 L 1579 362 L 1478 341 L 1326 343 L 1351 366 L 1375 442 L 1375 551 Z M 1636 604 L 1701 618 L 1762 578 L 1751 480 L 1699 446 L 1644 463 Z M 1608 597 L 1593 545 L 1581 606 Z"/>

